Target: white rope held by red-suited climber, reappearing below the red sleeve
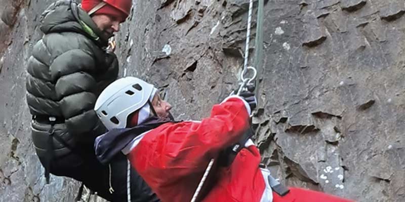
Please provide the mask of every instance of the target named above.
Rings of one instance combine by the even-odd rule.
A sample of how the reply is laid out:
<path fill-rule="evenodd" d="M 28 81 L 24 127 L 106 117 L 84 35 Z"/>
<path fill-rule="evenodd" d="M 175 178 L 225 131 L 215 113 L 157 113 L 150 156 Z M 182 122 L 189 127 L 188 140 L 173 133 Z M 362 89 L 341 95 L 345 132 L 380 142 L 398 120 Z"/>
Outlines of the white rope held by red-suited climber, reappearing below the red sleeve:
<path fill-rule="evenodd" d="M 253 0 L 250 0 L 249 2 L 249 14 L 248 14 L 248 30 L 246 32 L 246 47 L 245 47 L 245 63 L 244 63 L 244 69 L 241 73 L 241 79 L 243 79 L 243 75 L 245 74 L 245 72 L 248 70 L 248 59 L 249 59 L 249 42 L 250 42 L 250 28 L 252 26 L 252 10 L 253 10 Z M 255 68 L 253 68 L 255 70 Z M 255 77 L 256 77 L 256 71 L 255 71 Z M 253 80 L 254 78 L 252 78 L 251 80 Z M 249 80 L 249 82 L 251 81 Z M 246 81 L 242 81 L 245 84 L 242 84 L 241 88 L 244 87 L 244 85 L 246 85 L 246 83 L 248 82 L 248 79 Z M 238 93 L 240 90 L 238 90 Z M 207 179 L 208 174 L 210 173 L 210 170 L 212 168 L 212 166 L 214 165 L 214 159 L 211 159 L 210 163 L 207 166 L 207 169 L 203 175 L 203 177 L 201 178 L 201 181 L 199 182 L 197 189 L 194 192 L 193 197 L 191 198 L 190 202 L 195 202 L 195 200 L 197 199 L 198 193 L 201 191 L 201 188 L 204 185 L 204 182 Z"/>

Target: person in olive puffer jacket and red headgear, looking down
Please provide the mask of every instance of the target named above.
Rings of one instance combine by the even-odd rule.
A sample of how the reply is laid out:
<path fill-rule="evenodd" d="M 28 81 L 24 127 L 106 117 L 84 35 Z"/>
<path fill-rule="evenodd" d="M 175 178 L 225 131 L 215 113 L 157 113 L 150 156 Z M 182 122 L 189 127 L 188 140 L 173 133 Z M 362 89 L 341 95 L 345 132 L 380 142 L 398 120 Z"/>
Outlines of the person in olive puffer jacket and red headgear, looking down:
<path fill-rule="evenodd" d="M 26 99 L 47 182 L 50 174 L 65 176 L 108 201 L 156 202 L 124 155 L 103 165 L 93 149 L 95 138 L 106 131 L 93 111 L 96 99 L 118 76 L 108 39 L 131 6 L 131 0 L 83 0 L 82 7 L 75 0 L 54 1 L 41 15 L 44 36 L 27 62 Z"/>

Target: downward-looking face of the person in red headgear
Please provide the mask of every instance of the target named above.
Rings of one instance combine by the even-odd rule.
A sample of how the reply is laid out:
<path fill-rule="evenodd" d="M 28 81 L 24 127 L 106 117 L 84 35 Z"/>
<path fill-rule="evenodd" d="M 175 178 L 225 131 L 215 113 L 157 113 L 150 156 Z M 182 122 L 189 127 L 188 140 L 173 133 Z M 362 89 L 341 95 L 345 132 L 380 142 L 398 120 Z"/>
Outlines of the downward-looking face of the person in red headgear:
<path fill-rule="evenodd" d="M 117 17 L 99 14 L 92 16 L 92 19 L 107 38 L 110 38 L 114 32 L 119 31 L 121 20 Z"/>

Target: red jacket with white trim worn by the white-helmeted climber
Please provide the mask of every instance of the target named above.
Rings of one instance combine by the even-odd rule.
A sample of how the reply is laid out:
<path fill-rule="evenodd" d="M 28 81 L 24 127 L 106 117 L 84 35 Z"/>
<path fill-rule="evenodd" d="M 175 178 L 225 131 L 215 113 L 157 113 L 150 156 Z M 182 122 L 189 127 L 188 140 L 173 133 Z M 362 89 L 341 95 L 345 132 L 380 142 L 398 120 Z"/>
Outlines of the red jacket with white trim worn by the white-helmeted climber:
<path fill-rule="evenodd" d="M 162 201 L 188 202 L 210 159 L 236 143 L 249 127 L 249 114 L 244 100 L 229 97 L 201 122 L 163 124 L 135 138 L 123 151 Z M 241 149 L 230 167 L 219 169 L 218 182 L 204 201 L 260 201 L 266 189 L 260 161 L 253 144 Z"/>

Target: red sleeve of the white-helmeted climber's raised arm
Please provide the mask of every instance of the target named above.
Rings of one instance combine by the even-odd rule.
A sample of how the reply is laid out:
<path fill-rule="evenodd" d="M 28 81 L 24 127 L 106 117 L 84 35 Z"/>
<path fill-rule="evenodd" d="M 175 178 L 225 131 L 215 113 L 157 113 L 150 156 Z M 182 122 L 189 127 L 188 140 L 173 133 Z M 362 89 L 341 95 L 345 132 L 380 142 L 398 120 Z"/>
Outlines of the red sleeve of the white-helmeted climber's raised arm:
<path fill-rule="evenodd" d="M 203 172 L 211 158 L 237 142 L 249 127 L 249 114 L 245 100 L 230 97 L 201 122 L 181 122 L 146 133 L 129 159 L 152 188 L 173 185 Z"/>

